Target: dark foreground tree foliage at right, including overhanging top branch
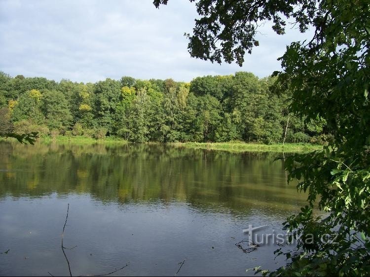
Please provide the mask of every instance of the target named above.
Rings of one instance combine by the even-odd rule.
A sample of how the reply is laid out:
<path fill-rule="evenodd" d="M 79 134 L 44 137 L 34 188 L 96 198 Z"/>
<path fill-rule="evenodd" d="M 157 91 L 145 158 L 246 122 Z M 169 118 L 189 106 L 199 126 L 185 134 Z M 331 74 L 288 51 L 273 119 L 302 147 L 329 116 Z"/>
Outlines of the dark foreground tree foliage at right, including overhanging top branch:
<path fill-rule="evenodd" d="M 271 276 L 368 276 L 370 273 L 370 2 L 368 0 L 190 0 L 200 19 L 188 35 L 192 57 L 241 65 L 259 43 L 259 24 L 284 34 L 287 20 L 309 40 L 279 58 L 277 93 L 290 91 L 289 113 L 326 122 L 333 138 L 322 151 L 286 159 L 289 181 L 308 193 L 308 206 L 285 222 L 299 254 Z M 168 0 L 154 0 L 154 5 Z M 314 217 L 314 207 L 327 213 Z M 294 232 L 293 232 L 294 231 Z M 324 239 L 325 238 L 325 239 Z M 278 249 L 278 254 L 282 252 Z"/>

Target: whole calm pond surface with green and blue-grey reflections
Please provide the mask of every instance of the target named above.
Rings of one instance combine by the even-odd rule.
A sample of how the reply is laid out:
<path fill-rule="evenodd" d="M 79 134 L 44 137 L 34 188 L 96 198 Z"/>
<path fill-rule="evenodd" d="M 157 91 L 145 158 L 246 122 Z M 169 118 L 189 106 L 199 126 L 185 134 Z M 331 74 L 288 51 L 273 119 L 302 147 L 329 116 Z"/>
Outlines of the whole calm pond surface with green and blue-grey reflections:
<path fill-rule="evenodd" d="M 245 254 L 250 224 L 282 232 L 305 204 L 279 153 L 165 145 L 0 141 L 0 276 L 250 276 L 276 244 Z M 262 232 L 262 231 L 261 231 Z M 4 253 L 6 250 L 9 251 Z M 179 264 L 180 263 L 180 264 Z"/>

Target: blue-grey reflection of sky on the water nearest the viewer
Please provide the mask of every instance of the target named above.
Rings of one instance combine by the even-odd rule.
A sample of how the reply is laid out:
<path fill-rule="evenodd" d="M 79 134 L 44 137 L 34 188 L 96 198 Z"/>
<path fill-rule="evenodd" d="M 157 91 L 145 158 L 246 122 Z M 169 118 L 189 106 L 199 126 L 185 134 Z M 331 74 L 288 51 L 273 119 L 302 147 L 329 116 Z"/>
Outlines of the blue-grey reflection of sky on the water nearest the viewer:
<path fill-rule="evenodd" d="M 274 226 L 284 219 L 280 215 L 257 209 L 235 217 L 186 203 L 102 204 L 88 195 L 52 194 L 0 201 L 6 211 L 0 214 L 0 245 L 10 249 L 1 256 L 1 276 L 68 274 L 60 249 L 67 203 L 64 244 L 78 245 L 66 250 L 74 275 L 101 274 L 126 262 L 130 266 L 119 275 L 173 275 L 185 258 L 183 275 L 245 276 L 247 268 L 278 266 L 276 245 L 245 255 L 234 244 L 247 238 L 242 229 L 248 224 Z"/>

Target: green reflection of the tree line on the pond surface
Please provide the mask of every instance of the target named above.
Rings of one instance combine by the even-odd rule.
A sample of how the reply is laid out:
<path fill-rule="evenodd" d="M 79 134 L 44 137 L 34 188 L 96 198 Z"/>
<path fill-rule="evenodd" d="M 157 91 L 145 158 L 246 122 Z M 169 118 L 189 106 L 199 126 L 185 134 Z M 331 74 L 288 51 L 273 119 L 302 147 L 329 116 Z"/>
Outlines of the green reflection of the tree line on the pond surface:
<path fill-rule="evenodd" d="M 194 206 L 291 209 L 279 153 L 228 153 L 166 145 L 34 146 L 0 143 L 0 197 L 76 192 L 104 202 L 173 200 Z"/>

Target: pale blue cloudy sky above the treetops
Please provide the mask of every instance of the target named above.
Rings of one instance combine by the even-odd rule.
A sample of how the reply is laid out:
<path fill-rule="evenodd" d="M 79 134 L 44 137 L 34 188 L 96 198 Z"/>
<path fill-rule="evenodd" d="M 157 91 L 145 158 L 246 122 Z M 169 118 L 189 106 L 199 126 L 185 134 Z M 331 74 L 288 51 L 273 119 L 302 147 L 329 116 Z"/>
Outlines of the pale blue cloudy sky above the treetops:
<path fill-rule="evenodd" d="M 0 71 L 59 81 L 173 78 L 251 71 L 259 77 L 280 69 L 286 45 L 306 35 L 278 36 L 266 24 L 259 47 L 242 68 L 190 58 L 184 33 L 197 16 L 194 3 L 170 0 L 0 0 Z"/>

